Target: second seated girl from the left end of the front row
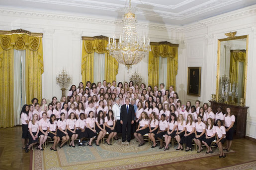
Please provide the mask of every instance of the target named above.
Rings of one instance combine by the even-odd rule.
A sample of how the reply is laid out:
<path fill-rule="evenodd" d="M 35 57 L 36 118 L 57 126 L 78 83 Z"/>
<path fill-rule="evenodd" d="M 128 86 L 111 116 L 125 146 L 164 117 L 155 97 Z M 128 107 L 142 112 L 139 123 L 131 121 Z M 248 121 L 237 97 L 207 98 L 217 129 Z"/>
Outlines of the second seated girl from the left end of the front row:
<path fill-rule="evenodd" d="M 47 124 L 49 123 L 49 118 L 47 118 L 47 113 L 44 112 L 42 115 L 43 115 L 43 118 L 39 120 L 39 134 L 38 134 L 38 136 L 40 136 L 39 147 L 36 148 L 36 149 L 40 149 L 41 151 L 44 150 L 42 148 L 42 144 L 44 144 L 48 138 Z"/>

